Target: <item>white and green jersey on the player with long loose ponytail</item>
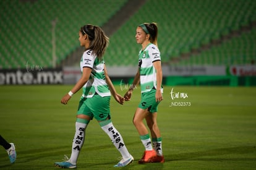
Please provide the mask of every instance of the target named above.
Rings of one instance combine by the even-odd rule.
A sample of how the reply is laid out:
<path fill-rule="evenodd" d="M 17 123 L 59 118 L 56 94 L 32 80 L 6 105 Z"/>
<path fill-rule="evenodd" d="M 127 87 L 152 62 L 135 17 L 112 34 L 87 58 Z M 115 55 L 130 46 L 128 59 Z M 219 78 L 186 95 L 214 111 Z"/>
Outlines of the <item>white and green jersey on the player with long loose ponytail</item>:
<path fill-rule="evenodd" d="M 83 86 L 83 97 L 92 98 L 95 93 L 102 97 L 111 95 L 105 81 L 104 64 L 104 60 L 100 61 L 98 57 L 92 54 L 91 49 L 83 53 L 80 61 L 81 71 L 83 71 L 83 67 L 92 69 L 88 82 Z"/>

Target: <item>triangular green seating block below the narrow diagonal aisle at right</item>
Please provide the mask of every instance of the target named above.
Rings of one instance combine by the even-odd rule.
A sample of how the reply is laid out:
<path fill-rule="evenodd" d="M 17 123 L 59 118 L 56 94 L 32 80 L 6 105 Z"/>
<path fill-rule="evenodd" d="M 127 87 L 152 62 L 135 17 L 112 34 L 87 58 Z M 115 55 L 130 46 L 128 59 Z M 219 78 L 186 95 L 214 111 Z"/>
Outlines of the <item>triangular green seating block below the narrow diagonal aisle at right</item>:
<path fill-rule="evenodd" d="M 180 65 L 205 65 L 205 64 L 252 64 L 256 59 L 256 28 L 240 36 L 223 41 L 221 45 L 202 51 L 198 55 L 192 55 L 188 59 L 179 62 Z"/>

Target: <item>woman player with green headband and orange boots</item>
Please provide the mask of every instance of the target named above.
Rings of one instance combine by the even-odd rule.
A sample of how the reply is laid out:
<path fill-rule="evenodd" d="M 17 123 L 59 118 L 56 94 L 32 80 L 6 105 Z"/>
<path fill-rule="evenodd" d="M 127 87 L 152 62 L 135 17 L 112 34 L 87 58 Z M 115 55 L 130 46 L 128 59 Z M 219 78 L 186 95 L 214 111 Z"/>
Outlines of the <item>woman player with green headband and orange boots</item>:
<path fill-rule="evenodd" d="M 157 107 L 163 100 L 162 69 L 160 51 L 157 46 L 158 27 L 156 23 L 142 23 L 136 30 L 136 41 L 142 45 L 139 52 L 139 68 L 134 77 L 134 82 L 124 95 L 126 101 L 132 96 L 132 91 L 140 82 L 141 101 L 134 114 L 134 125 L 139 132 L 145 151 L 139 163 L 164 163 L 161 146 L 161 135 L 156 123 Z M 147 127 L 143 124 L 146 120 L 150 129 L 153 147 Z"/>

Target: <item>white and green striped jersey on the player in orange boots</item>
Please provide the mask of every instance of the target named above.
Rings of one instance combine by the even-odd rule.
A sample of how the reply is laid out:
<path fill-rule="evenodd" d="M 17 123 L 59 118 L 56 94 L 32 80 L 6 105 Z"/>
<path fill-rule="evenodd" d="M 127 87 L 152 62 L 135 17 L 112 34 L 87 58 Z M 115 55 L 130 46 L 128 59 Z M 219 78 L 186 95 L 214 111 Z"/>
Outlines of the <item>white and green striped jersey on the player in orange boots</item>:
<path fill-rule="evenodd" d="M 149 44 L 139 52 L 140 88 L 141 92 L 156 89 L 156 70 L 153 62 L 161 61 L 160 51 L 156 45 Z M 163 92 L 163 89 L 161 89 Z"/>

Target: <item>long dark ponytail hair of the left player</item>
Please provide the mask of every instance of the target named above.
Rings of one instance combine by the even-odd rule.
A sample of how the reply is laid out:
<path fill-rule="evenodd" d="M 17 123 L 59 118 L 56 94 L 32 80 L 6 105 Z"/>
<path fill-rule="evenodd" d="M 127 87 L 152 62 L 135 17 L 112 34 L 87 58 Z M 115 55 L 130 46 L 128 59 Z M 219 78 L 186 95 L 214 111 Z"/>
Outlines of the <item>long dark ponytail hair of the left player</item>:
<path fill-rule="evenodd" d="M 103 59 L 103 54 L 109 44 L 109 38 L 105 35 L 103 30 L 96 26 L 87 24 L 80 28 L 82 35 L 88 35 L 90 45 L 88 49 L 92 49 L 92 53 L 95 54 L 100 60 Z"/>

